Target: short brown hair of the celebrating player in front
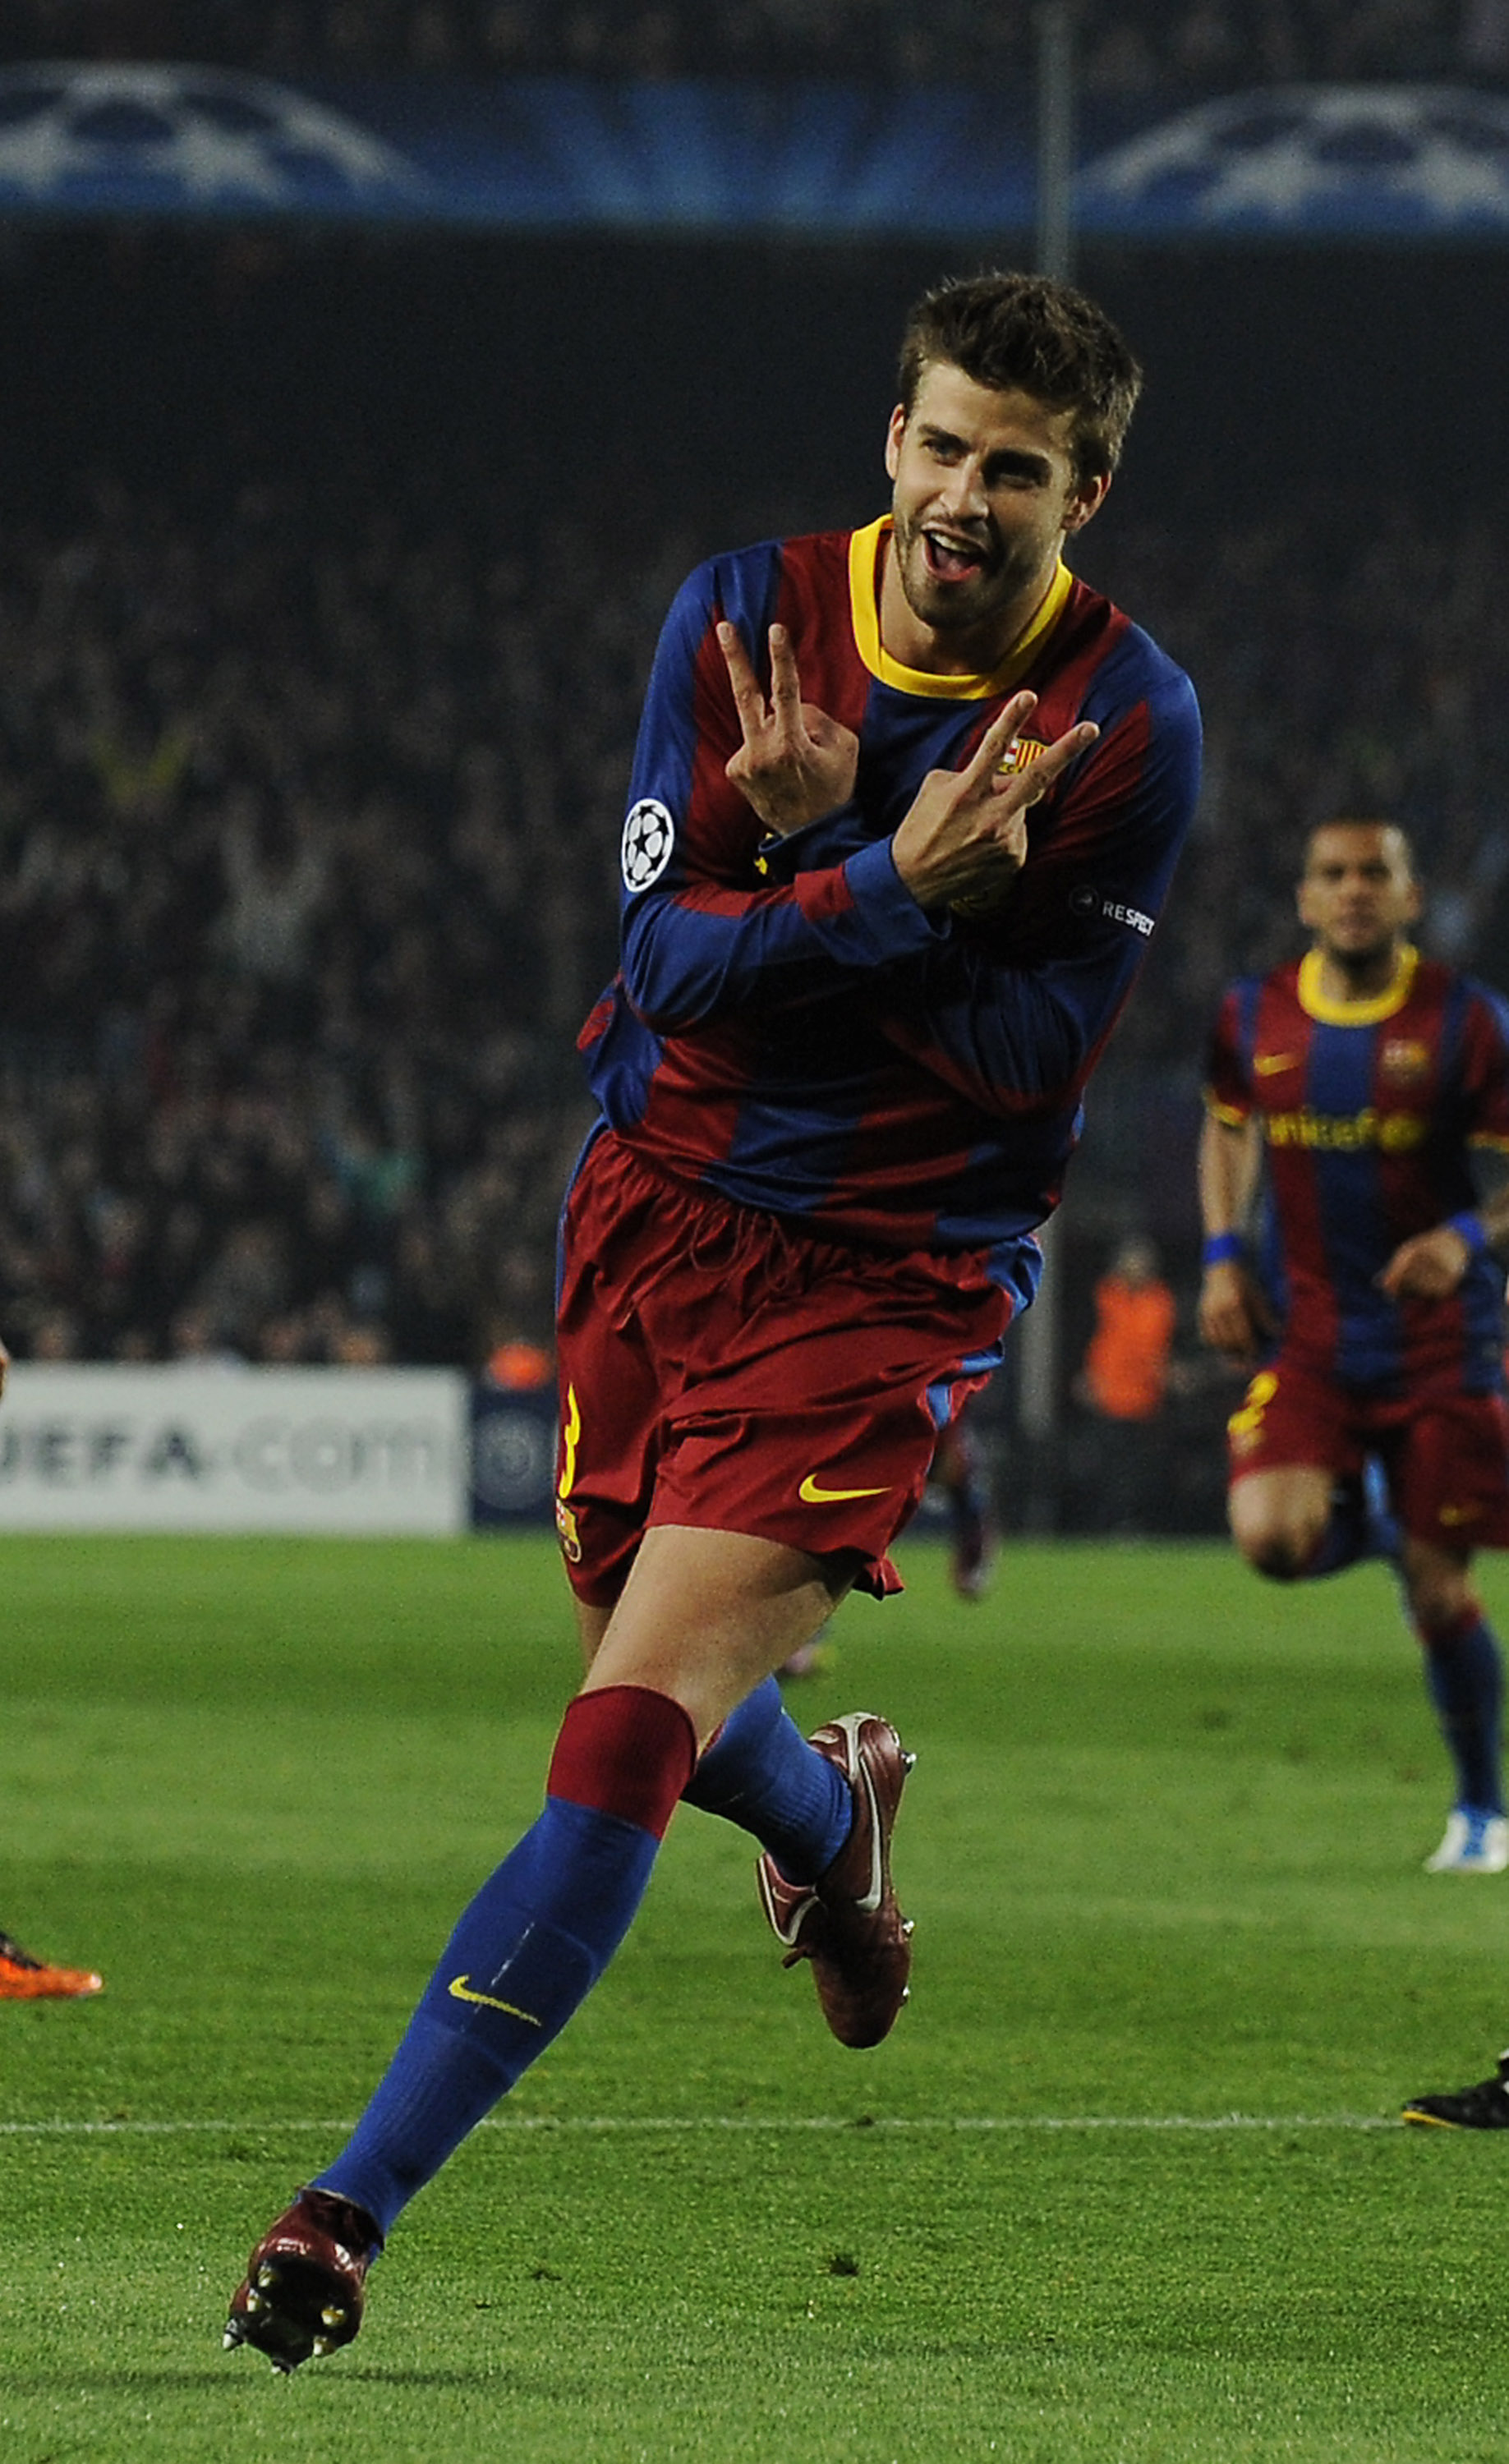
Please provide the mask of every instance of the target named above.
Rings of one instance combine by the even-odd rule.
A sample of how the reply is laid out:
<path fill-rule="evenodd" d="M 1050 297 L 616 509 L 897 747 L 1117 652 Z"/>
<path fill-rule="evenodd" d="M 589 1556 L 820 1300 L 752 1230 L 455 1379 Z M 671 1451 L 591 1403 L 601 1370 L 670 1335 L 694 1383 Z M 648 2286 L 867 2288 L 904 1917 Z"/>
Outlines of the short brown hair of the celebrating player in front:
<path fill-rule="evenodd" d="M 1045 274 L 969 274 L 925 291 L 902 333 L 900 399 L 910 416 L 922 372 L 944 360 L 991 392 L 1018 387 L 1073 411 L 1075 478 L 1117 468 L 1142 392 L 1142 367 L 1095 301 Z"/>

